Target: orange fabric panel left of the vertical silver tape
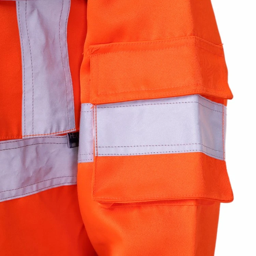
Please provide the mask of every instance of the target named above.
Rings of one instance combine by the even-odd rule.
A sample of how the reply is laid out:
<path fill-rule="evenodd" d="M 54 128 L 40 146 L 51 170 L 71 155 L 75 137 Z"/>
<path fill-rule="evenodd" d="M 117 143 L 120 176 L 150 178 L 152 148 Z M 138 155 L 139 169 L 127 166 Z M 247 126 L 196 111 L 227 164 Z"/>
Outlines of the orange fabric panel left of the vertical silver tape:
<path fill-rule="evenodd" d="M 0 1 L 0 140 L 22 138 L 22 59 L 15 1 Z"/>

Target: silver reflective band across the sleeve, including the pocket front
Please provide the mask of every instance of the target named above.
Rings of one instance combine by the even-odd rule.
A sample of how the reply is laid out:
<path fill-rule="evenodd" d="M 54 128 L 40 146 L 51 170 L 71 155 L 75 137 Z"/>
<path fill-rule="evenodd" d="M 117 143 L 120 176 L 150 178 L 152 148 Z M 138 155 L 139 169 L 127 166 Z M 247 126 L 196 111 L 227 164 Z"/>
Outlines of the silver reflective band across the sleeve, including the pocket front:
<path fill-rule="evenodd" d="M 80 154 L 92 155 L 93 144 L 86 140 L 93 136 L 93 121 L 86 118 L 92 114 L 87 108 L 82 105 Z M 95 155 L 202 152 L 224 160 L 225 123 L 226 107 L 200 95 L 95 105 Z"/>

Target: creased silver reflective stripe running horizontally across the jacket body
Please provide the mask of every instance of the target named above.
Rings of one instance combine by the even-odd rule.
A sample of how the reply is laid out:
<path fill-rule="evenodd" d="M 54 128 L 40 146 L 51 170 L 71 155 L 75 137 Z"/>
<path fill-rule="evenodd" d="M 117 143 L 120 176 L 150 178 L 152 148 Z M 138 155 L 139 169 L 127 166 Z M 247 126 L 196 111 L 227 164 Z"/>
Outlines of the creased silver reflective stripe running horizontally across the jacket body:
<path fill-rule="evenodd" d="M 67 136 L 1 142 L 0 163 L 0 201 L 76 184 L 77 147 Z"/>

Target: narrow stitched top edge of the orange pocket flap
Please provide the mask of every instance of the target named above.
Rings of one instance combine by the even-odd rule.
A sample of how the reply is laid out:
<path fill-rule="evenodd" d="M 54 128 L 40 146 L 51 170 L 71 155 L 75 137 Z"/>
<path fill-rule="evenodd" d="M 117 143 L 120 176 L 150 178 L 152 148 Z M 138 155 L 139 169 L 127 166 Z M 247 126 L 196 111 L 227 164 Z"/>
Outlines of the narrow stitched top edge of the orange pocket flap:
<path fill-rule="evenodd" d="M 196 37 L 196 36 L 189 36 L 189 37 L 182 37 L 182 38 L 174 38 L 174 39 L 163 39 L 163 40 L 159 40 L 159 41 L 150 41 L 150 42 L 130 42 L 130 43 L 113 43 L 113 44 L 104 44 L 101 46 L 90 46 L 91 49 L 98 49 L 98 48 L 102 48 L 102 47 L 108 47 L 108 46 L 115 46 L 115 45 L 141 45 L 141 44 L 158 44 L 158 43 L 162 43 L 162 42 L 174 42 L 174 41 L 180 41 L 180 40 L 189 40 L 189 39 L 196 39 L 199 41 L 202 41 L 204 43 L 210 44 L 216 48 L 219 48 L 220 50 L 223 51 L 223 47 L 213 44 L 207 40 L 204 40 L 200 37 Z"/>

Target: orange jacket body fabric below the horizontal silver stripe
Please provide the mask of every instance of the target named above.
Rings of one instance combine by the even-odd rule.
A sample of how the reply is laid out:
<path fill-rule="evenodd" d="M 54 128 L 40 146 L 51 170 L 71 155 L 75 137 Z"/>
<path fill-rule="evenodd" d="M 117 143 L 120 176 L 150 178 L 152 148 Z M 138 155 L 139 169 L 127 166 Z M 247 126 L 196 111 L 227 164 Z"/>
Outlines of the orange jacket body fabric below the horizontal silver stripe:
<path fill-rule="evenodd" d="M 96 255 L 77 201 L 77 186 L 0 203 L 2 256 Z"/>

